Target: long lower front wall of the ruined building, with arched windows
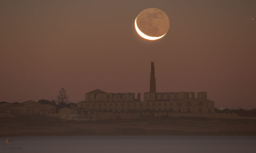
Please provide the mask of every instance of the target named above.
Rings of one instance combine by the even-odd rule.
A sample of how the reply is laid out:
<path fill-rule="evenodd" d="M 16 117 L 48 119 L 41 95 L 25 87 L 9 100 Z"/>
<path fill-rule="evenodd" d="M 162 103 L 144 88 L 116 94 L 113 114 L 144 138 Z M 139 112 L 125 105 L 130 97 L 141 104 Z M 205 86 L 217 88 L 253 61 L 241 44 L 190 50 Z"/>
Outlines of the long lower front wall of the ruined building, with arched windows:
<path fill-rule="evenodd" d="M 176 101 L 143 102 L 80 102 L 77 108 L 100 112 L 193 112 L 214 113 L 214 101 L 208 99 L 178 99 Z M 209 111 L 210 110 L 210 111 Z"/>

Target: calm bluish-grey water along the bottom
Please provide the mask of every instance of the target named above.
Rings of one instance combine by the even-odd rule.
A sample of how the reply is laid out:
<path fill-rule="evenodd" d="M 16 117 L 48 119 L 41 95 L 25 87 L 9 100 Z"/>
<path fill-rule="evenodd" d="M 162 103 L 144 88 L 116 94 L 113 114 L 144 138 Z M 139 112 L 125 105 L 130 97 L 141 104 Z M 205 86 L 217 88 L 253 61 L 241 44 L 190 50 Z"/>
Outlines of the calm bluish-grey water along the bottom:
<path fill-rule="evenodd" d="M 5 142 L 7 138 L 9 144 Z M 246 136 L 59 136 L 0 139 L 0 153 L 256 153 L 256 137 Z M 23 149 L 11 151 L 19 147 Z"/>

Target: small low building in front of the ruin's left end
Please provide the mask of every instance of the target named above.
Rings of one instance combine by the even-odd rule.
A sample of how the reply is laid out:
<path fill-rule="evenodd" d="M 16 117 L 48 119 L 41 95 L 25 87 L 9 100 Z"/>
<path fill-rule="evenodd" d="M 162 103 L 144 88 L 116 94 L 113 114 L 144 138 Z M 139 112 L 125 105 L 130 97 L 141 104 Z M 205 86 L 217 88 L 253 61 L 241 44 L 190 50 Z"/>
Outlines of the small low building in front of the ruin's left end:
<path fill-rule="evenodd" d="M 59 117 L 65 120 L 97 120 L 96 111 L 77 108 L 62 108 L 59 110 Z"/>

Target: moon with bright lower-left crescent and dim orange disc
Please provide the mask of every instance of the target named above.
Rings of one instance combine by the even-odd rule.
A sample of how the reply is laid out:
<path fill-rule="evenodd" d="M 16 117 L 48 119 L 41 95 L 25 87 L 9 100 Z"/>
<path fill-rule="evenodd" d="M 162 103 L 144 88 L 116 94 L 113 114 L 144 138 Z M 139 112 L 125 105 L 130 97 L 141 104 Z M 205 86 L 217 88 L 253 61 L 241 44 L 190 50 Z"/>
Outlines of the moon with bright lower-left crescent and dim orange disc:
<path fill-rule="evenodd" d="M 142 38 L 157 40 L 166 35 L 170 21 L 168 16 L 160 9 L 147 8 L 136 17 L 134 26 Z"/>

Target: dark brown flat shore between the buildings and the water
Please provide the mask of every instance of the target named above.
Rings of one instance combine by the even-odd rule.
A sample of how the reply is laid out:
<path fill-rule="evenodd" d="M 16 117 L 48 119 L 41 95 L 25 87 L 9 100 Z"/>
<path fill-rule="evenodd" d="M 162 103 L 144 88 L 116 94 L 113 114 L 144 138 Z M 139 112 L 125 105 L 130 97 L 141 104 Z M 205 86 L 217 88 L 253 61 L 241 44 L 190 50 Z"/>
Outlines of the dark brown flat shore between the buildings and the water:
<path fill-rule="evenodd" d="M 163 116 L 128 120 L 67 121 L 42 116 L 0 118 L 1 137 L 71 135 L 256 136 L 256 119 Z"/>

